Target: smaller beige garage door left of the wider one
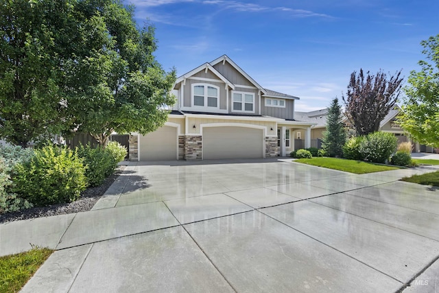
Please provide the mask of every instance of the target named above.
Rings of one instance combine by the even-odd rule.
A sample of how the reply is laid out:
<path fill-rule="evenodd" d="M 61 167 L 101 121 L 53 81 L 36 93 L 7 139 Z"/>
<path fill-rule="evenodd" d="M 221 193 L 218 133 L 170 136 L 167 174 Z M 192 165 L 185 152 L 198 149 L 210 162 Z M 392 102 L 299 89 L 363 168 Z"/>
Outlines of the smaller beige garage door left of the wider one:
<path fill-rule="evenodd" d="M 163 126 L 139 137 L 140 161 L 176 160 L 177 128 Z"/>

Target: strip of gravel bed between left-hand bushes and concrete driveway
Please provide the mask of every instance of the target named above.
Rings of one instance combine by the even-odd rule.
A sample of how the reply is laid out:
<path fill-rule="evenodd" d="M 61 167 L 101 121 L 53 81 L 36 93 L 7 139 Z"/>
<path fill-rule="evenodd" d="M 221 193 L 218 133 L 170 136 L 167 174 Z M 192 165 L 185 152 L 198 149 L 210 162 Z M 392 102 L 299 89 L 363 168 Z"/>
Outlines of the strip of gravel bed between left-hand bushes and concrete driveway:
<path fill-rule="evenodd" d="M 75 202 L 65 204 L 53 204 L 49 207 L 34 207 L 32 209 L 25 209 L 23 211 L 16 211 L 13 213 L 3 213 L 0 215 L 0 223 L 13 222 L 18 220 L 34 219 L 40 217 L 49 217 L 50 215 L 64 215 L 67 213 L 78 213 L 80 211 L 90 211 L 97 200 L 101 198 L 105 191 L 112 185 L 113 182 L 123 172 L 125 166 L 119 165 L 115 174 L 112 174 L 104 183 L 98 187 L 88 187 L 82 191 L 81 197 Z"/>

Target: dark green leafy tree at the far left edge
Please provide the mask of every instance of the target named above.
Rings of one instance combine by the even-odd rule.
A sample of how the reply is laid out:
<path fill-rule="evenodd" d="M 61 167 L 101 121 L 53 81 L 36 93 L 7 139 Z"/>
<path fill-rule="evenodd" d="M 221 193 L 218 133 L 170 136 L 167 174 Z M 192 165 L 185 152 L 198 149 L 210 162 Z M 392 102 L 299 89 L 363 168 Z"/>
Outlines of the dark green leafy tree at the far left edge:
<path fill-rule="evenodd" d="M 70 4 L 1 1 L 0 138 L 25 147 L 66 127 L 60 68 L 73 40 Z"/>

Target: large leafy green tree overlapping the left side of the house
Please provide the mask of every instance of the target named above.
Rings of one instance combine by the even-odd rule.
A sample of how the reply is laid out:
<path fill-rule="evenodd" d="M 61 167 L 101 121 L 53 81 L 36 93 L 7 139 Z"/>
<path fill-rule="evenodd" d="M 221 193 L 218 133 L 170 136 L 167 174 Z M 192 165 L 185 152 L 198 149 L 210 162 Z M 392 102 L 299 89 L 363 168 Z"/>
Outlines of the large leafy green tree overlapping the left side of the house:
<path fill-rule="evenodd" d="M 67 78 L 69 118 L 75 129 L 90 133 L 104 146 L 113 131 L 156 130 L 167 120 L 165 105 L 174 104 L 170 91 L 175 71 L 165 73 L 152 55 L 154 27 L 139 30 L 132 7 L 118 1 L 85 3 L 94 4 L 83 13 L 95 27 L 91 37 L 97 41 L 84 38 L 82 47 L 88 54 L 67 65 L 72 73 Z"/>

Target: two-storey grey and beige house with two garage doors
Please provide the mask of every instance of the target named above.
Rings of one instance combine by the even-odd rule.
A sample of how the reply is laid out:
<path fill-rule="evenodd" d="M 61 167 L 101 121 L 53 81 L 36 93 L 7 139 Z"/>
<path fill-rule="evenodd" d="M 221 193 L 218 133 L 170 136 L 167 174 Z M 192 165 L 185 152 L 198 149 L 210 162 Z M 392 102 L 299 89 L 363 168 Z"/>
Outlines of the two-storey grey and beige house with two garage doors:
<path fill-rule="evenodd" d="M 130 137 L 130 158 L 150 160 L 244 159 L 285 156 L 291 134 L 309 121 L 294 117 L 298 97 L 263 88 L 228 56 L 180 76 L 177 102 L 165 126 Z"/>

